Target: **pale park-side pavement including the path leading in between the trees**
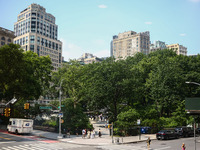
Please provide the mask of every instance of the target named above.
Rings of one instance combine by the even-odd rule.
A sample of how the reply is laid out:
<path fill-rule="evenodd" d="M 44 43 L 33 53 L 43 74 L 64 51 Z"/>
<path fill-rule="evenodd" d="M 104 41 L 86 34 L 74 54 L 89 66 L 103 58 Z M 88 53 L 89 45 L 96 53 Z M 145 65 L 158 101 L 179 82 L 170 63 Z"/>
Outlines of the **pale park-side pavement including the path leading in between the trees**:
<path fill-rule="evenodd" d="M 93 146 L 137 143 L 137 142 L 147 141 L 148 137 L 150 137 L 151 140 L 156 139 L 155 134 L 141 134 L 141 136 L 112 137 L 109 134 L 109 129 L 103 126 L 105 125 L 105 122 L 91 121 L 91 123 L 93 124 L 96 132 L 94 138 L 87 138 L 87 137 L 82 138 L 82 135 L 78 136 L 70 135 L 70 137 L 63 138 L 63 135 L 59 136 L 58 133 L 41 131 L 41 130 L 33 130 L 32 134 L 48 139 L 59 140 L 61 142 L 80 144 L 80 145 L 93 145 Z M 97 134 L 99 129 L 101 130 L 102 133 L 101 137 L 98 137 Z"/>

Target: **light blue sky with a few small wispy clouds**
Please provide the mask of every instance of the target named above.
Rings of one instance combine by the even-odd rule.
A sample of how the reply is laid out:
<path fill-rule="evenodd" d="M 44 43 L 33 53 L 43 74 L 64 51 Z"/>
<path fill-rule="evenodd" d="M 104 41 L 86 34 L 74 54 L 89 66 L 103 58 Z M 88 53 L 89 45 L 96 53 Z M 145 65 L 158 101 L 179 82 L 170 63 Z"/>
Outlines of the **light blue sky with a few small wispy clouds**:
<path fill-rule="evenodd" d="M 0 27 L 13 30 L 31 3 L 56 17 L 65 60 L 85 52 L 110 56 L 112 36 L 130 30 L 200 53 L 200 0 L 0 0 Z"/>

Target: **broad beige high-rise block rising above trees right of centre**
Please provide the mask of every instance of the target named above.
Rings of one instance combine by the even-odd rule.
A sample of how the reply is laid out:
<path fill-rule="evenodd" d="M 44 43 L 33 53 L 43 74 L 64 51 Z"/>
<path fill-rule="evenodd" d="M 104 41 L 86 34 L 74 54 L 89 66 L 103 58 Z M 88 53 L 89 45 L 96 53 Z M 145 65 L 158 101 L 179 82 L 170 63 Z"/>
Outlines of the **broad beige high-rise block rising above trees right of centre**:
<path fill-rule="evenodd" d="M 116 59 L 125 59 L 137 52 L 149 54 L 150 33 L 149 31 L 136 33 L 128 31 L 113 36 L 111 54 Z"/>

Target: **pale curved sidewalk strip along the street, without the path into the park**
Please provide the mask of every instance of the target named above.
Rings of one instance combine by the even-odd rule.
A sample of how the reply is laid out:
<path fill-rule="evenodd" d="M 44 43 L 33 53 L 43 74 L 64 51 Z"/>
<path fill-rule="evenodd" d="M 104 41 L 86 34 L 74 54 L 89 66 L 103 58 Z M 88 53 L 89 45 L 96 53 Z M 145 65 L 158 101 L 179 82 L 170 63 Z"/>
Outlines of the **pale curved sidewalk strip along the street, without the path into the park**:
<path fill-rule="evenodd" d="M 67 143 L 73 143 L 73 144 L 81 144 L 81 145 L 111 145 L 111 144 L 128 144 L 128 143 L 136 143 L 136 142 L 142 142 L 146 141 L 148 137 L 151 138 L 151 140 L 156 139 L 155 134 L 142 134 L 141 138 L 139 139 L 139 136 L 129 136 L 129 137 L 110 137 L 109 135 L 102 135 L 101 138 L 99 138 L 97 135 L 94 139 L 87 139 L 82 138 L 81 135 L 78 137 L 76 135 L 71 135 L 70 138 L 61 138 L 58 139 L 58 133 L 53 132 L 46 132 L 46 131 L 40 131 L 40 130 L 33 130 L 33 135 L 49 138 L 53 140 L 59 140 L 62 142 Z M 117 141 L 117 139 L 119 139 Z M 112 143 L 113 141 L 113 143 Z"/>

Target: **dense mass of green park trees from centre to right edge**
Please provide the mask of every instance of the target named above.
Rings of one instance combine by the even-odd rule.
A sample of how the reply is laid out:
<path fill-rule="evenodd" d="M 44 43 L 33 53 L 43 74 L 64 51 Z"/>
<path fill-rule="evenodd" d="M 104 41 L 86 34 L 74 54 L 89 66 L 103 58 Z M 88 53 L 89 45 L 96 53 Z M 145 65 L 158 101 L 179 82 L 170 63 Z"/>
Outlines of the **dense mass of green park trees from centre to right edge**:
<path fill-rule="evenodd" d="M 135 126 L 137 119 L 141 119 L 142 126 L 175 127 L 192 122 L 185 113 L 184 99 L 200 97 L 200 86 L 185 82 L 200 83 L 200 55 L 188 57 L 172 50 L 158 50 L 149 55 L 137 53 L 125 60 L 107 58 L 83 66 L 70 61 L 52 78 L 52 88 L 59 87 L 62 80 L 63 96 L 71 99 L 70 112 L 63 108 L 68 114 L 66 127 L 73 126 L 70 123 L 80 126 L 69 117 L 72 112 L 81 115 L 77 107 L 81 111 L 103 109 L 119 133 L 129 132 L 122 128 Z M 58 97 L 57 90 L 54 96 Z M 87 124 L 87 120 L 82 121 Z"/>

